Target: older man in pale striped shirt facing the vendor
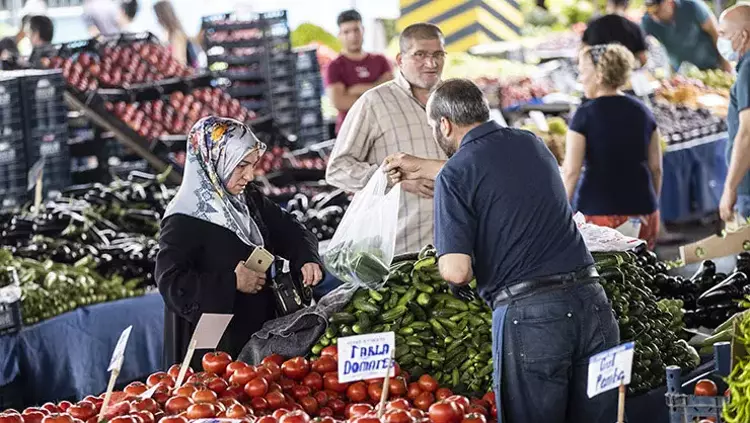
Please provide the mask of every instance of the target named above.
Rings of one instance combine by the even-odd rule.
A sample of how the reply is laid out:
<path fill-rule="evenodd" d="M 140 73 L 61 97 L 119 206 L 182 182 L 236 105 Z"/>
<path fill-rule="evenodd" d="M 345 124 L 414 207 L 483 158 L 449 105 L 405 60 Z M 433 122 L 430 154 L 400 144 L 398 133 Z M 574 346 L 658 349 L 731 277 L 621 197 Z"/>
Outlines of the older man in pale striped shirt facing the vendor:
<path fill-rule="evenodd" d="M 385 158 L 398 152 L 447 158 L 425 113 L 445 63 L 443 34 L 435 25 L 418 23 L 404 29 L 399 44 L 395 78 L 365 92 L 346 115 L 328 161 L 326 181 L 333 186 L 361 190 Z M 402 188 L 396 254 L 433 242 L 433 181 L 404 181 Z"/>

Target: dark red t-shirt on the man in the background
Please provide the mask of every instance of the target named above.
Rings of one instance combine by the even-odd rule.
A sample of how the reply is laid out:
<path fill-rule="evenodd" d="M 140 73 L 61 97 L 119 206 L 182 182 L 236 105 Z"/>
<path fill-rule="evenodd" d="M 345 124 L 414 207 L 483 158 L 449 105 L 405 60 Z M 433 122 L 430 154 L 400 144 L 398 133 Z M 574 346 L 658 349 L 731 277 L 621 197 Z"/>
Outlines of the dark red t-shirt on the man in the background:
<path fill-rule="evenodd" d="M 372 84 L 384 73 L 391 71 L 391 64 L 381 54 L 367 54 L 362 60 L 352 60 L 340 55 L 328 65 L 326 84 L 342 83 L 349 88 L 355 84 Z M 339 111 L 336 119 L 336 133 L 344 122 L 346 112 Z"/>

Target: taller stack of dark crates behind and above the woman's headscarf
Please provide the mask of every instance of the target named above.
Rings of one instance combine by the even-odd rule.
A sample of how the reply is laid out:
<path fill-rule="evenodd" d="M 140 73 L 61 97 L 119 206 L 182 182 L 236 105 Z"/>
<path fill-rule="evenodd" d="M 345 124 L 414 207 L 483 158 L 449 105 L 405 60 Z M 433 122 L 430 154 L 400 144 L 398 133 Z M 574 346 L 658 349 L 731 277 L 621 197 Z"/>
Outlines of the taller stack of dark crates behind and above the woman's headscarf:
<path fill-rule="evenodd" d="M 231 82 L 228 92 L 276 126 L 297 132 L 295 57 L 286 11 L 203 18 L 212 71 Z"/>

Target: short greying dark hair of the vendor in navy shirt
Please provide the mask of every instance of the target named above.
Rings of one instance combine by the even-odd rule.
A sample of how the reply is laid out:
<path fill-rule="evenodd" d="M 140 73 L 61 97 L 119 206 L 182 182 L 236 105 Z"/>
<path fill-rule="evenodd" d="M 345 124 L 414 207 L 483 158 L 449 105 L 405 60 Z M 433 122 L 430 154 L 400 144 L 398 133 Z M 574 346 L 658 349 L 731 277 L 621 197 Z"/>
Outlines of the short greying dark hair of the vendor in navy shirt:
<path fill-rule="evenodd" d="M 446 118 L 458 126 L 490 120 L 490 105 L 477 84 L 468 79 L 445 80 L 435 87 L 428 102 L 430 120 Z"/>

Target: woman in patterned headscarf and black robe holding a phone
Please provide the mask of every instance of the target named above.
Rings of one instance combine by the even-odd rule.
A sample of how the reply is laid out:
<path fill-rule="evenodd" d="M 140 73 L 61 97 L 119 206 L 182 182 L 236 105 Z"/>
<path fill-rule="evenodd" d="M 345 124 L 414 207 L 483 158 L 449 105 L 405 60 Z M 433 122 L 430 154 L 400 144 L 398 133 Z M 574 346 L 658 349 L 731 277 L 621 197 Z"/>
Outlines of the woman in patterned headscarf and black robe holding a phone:
<path fill-rule="evenodd" d="M 306 285 L 322 279 L 315 236 L 251 184 L 265 149 L 233 119 L 204 118 L 188 134 L 183 182 L 164 214 L 156 258 L 165 365 L 184 358 L 203 313 L 234 315 L 217 348 L 233 357 L 275 317 L 266 275 L 244 266 L 256 247 L 289 260 Z M 197 351 L 194 369 L 201 357 Z"/>

